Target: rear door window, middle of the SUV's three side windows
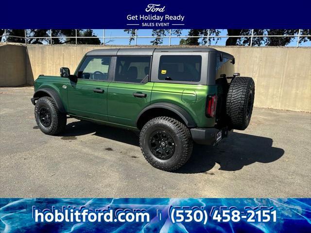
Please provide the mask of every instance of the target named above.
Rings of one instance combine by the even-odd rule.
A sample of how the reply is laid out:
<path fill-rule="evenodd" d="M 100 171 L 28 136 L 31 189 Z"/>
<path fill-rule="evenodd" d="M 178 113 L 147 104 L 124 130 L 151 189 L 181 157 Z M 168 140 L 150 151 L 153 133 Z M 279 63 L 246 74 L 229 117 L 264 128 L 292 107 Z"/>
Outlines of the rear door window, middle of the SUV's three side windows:
<path fill-rule="evenodd" d="M 147 83 L 150 59 L 150 56 L 117 57 L 115 82 Z"/>

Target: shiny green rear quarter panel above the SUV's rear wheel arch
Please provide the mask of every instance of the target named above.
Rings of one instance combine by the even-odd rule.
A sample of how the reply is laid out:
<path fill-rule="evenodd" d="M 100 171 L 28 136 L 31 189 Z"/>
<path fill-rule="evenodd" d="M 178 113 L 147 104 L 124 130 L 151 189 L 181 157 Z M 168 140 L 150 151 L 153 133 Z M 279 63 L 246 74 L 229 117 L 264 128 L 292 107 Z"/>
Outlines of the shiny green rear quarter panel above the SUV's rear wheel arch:
<path fill-rule="evenodd" d="M 213 127 L 215 119 L 207 118 L 206 101 L 207 95 L 216 93 L 217 86 L 212 85 L 155 83 L 150 104 L 158 102 L 173 103 L 187 111 L 197 127 Z"/>

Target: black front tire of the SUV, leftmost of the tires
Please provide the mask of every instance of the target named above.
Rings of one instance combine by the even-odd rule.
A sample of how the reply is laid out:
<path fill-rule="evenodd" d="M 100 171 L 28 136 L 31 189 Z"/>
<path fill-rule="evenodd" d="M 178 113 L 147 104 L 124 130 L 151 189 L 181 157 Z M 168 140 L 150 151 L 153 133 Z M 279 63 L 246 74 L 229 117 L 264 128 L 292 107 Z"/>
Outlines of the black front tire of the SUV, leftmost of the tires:
<path fill-rule="evenodd" d="M 42 117 L 40 119 L 40 113 L 42 115 L 43 111 L 42 109 L 44 109 L 45 115 L 48 115 L 51 118 L 48 122 L 44 121 L 46 120 L 44 117 L 43 120 Z M 35 121 L 43 133 L 48 135 L 57 135 L 65 130 L 67 115 L 58 110 L 53 98 L 41 97 L 35 103 Z"/>

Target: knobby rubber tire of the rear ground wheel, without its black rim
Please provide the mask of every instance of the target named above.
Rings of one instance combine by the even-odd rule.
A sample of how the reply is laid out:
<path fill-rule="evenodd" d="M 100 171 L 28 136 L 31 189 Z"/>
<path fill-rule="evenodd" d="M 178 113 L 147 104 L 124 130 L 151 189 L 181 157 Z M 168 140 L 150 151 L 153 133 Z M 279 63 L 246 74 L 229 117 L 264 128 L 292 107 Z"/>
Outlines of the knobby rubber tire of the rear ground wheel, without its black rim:
<path fill-rule="evenodd" d="M 160 159 L 152 152 L 151 137 L 155 132 L 164 132 L 173 139 L 174 152 L 170 158 Z M 149 120 L 140 131 L 139 144 L 147 162 L 165 171 L 173 171 L 183 166 L 189 160 L 193 148 L 193 141 L 187 126 L 167 116 Z"/>

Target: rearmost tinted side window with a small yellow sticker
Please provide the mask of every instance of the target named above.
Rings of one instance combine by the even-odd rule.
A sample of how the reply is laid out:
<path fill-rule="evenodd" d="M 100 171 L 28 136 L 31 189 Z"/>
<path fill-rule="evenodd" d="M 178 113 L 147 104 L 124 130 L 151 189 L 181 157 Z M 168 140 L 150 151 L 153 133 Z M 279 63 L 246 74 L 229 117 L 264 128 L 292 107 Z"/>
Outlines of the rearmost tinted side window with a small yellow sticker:
<path fill-rule="evenodd" d="M 162 55 L 159 62 L 159 80 L 200 82 L 202 57 L 200 55 Z"/>

